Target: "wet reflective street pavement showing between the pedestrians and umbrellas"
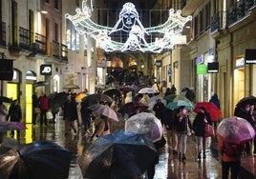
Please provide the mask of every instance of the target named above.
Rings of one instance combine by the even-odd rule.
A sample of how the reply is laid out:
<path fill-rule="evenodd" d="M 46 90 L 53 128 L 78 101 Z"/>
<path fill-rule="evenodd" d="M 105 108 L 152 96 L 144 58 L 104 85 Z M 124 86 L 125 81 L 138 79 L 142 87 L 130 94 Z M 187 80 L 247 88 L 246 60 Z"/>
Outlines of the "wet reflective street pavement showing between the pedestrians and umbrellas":
<path fill-rule="evenodd" d="M 58 119 L 55 124 L 46 127 L 32 128 L 27 124 L 25 131 L 21 132 L 19 143 L 31 143 L 37 140 L 52 140 L 60 146 L 74 152 L 70 167 L 70 179 L 82 179 L 81 170 L 76 158 L 81 149 L 90 146 L 88 137 L 85 137 L 82 129 L 77 133 L 65 136 L 64 121 Z M 123 129 L 123 123 L 115 123 L 113 130 Z M 10 133 L 8 133 L 10 135 Z M 166 133 L 164 132 L 164 135 Z M 16 136 L 14 136 L 16 138 Z M 156 166 L 155 179 L 219 179 L 222 178 L 222 166 L 217 151 L 216 139 L 208 141 L 206 158 L 197 161 L 197 148 L 195 136 L 189 136 L 187 140 L 186 161 L 181 162 L 178 156 L 168 152 L 167 146 L 160 150 L 160 163 Z M 254 155 L 247 155 L 242 158 L 240 179 L 256 178 L 256 158 Z"/>

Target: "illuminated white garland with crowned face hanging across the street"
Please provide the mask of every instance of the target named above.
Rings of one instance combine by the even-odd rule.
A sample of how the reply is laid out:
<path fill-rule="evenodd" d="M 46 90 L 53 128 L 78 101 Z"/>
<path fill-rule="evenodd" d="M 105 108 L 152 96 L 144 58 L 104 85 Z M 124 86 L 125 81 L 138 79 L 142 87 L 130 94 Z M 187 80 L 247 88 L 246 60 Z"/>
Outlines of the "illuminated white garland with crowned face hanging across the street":
<path fill-rule="evenodd" d="M 192 16 L 182 17 L 181 10 L 176 12 L 169 10 L 169 17 L 160 26 L 144 28 L 139 21 L 139 13 L 132 3 L 125 3 L 119 12 L 115 27 L 105 27 L 94 23 L 91 20 L 92 10 L 86 6 L 87 0 L 82 2 L 82 10 L 77 8 L 75 15 L 66 13 L 79 34 L 91 35 L 96 40 L 99 48 L 105 51 L 151 51 L 173 49 L 175 45 L 185 44 L 186 37 L 181 35 L 183 26 L 192 20 Z M 125 42 L 118 42 L 113 35 L 121 31 L 127 34 Z M 148 42 L 147 36 L 157 34 L 152 42 Z"/>

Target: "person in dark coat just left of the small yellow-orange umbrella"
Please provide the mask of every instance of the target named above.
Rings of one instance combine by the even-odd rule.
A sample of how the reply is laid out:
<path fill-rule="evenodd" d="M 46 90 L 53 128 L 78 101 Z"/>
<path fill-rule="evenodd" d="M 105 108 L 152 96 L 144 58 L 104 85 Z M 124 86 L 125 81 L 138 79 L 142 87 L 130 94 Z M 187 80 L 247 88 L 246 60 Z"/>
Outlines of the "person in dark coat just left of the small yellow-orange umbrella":
<path fill-rule="evenodd" d="M 72 96 L 68 95 L 67 101 L 62 105 L 64 111 L 63 119 L 65 120 L 65 135 L 68 135 L 71 129 L 76 133 L 75 120 L 78 119 L 76 103 Z"/>

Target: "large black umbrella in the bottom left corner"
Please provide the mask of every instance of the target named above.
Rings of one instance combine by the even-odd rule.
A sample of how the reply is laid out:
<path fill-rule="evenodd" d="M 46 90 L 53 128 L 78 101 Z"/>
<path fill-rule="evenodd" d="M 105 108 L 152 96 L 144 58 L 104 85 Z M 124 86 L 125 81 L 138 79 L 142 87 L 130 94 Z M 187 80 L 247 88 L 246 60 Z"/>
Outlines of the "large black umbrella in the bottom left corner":
<path fill-rule="evenodd" d="M 21 145 L 0 156 L 0 178 L 68 178 L 72 152 L 52 141 Z"/>

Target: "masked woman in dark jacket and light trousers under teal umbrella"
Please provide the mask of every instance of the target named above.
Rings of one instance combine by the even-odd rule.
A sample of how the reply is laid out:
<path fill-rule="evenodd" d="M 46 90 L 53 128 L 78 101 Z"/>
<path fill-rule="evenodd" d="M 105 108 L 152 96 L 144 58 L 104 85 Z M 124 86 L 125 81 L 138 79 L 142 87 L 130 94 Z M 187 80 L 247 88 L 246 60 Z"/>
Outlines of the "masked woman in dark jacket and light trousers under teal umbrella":
<path fill-rule="evenodd" d="M 180 161 L 186 160 L 186 141 L 188 135 L 188 129 L 192 129 L 192 125 L 189 119 L 187 109 L 181 106 L 179 112 L 175 118 L 174 126 L 178 136 L 178 152 Z"/>

